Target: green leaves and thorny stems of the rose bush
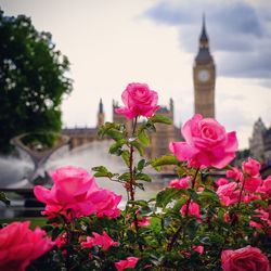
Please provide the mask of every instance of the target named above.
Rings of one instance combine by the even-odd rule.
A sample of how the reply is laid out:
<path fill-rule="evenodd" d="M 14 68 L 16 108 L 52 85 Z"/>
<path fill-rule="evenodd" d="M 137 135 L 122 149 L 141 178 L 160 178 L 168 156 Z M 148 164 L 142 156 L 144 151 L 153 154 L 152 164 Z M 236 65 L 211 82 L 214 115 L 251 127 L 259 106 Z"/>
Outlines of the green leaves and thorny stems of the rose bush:
<path fill-rule="evenodd" d="M 251 218 L 262 222 L 257 209 L 267 209 L 270 198 L 225 206 L 216 193 L 214 168 L 186 167 L 172 155 L 151 162 L 142 158 L 150 143 L 147 132 L 155 130 L 156 122 L 167 124 L 167 120 L 154 115 L 138 129 L 134 125 L 132 133 L 124 125 L 106 122 L 101 127 L 99 136 L 113 140 L 109 153 L 119 156 L 127 169 L 114 173 L 105 166 L 98 166 L 92 170 L 95 177 L 122 184 L 128 195 L 126 206 L 114 219 L 91 215 L 69 221 L 57 214 L 43 229 L 53 240 L 68 234 L 66 243 L 31 262 L 29 270 L 44 270 L 43 264 L 52 270 L 116 270 L 115 262 L 138 257 L 133 270 L 215 271 L 221 270 L 223 250 L 247 245 L 260 248 L 271 259 L 271 237 L 267 234 L 270 225 L 256 229 L 249 224 Z M 150 201 L 137 198 L 137 190 L 144 190 L 144 183 L 153 179 L 145 172 L 146 167 L 159 169 L 165 165 L 177 167 L 177 177 L 189 177 L 188 188 L 168 186 Z M 194 212 L 190 210 L 192 204 Z M 87 236 L 93 237 L 94 232 L 106 232 L 118 245 L 108 249 L 101 244 L 83 248 L 81 242 Z M 198 247 L 204 249 L 202 254 L 196 250 Z"/>

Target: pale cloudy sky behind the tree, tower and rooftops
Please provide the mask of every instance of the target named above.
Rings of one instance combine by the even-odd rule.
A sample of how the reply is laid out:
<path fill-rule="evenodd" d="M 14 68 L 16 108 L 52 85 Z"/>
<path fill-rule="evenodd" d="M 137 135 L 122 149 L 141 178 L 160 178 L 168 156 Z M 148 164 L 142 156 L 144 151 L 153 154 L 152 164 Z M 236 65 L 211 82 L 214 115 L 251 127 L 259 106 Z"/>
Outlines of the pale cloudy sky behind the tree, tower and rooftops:
<path fill-rule="evenodd" d="M 205 14 L 216 78 L 216 118 L 248 147 L 254 122 L 271 125 L 269 0 L 0 0 L 5 15 L 25 14 L 52 34 L 70 62 L 74 91 L 62 111 L 66 127 L 94 127 L 100 98 L 145 82 L 159 104 L 175 101 L 177 126 L 193 116 L 193 63 Z M 121 102 L 120 102 L 121 104 Z"/>

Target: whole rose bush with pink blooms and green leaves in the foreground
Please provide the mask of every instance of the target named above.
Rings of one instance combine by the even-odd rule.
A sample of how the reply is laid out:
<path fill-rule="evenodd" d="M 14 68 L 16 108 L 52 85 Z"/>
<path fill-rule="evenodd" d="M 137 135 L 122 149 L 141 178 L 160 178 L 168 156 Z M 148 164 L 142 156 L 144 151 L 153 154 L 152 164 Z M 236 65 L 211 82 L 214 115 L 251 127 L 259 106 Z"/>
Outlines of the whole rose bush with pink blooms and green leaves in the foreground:
<path fill-rule="evenodd" d="M 106 122 L 99 137 L 112 138 L 109 153 L 127 169 L 112 172 L 96 166 L 92 170 L 95 178 L 122 185 L 125 207 L 120 210 L 120 196 L 99 188 L 87 170 L 72 166 L 56 169 L 51 173 L 51 189 L 35 188 L 36 197 L 46 204 L 44 230 L 55 246 L 49 243 L 46 247 L 51 250 L 43 257 L 29 258 L 23 264 L 14 260 L 12 267 L 25 270 L 27 266 L 27 271 L 268 271 L 271 177 L 262 179 L 260 164 L 253 158 L 241 168 L 230 164 L 237 150 L 235 132 L 227 132 L 215 119 L 195 115 L 182 127 L 185 141 L 170 144 L 175 155 L 147 160 L 144 150 L 150 133 L 157 122 L 169 125 L 170 120 L 155 114 L 157 94 L 146 85 L 128 85 L 122 100 L 126 107 L 117 112 L 133 118 L 133 127 Z M 146 119 L 138 122 L 140 116 Z M 137 191 L 154 178 L 145 169 L 160 170 L 163 166 L 173 167 L 173 180 L 155 197 L 138 198 Z M 217 169 L 222 169 L 223 178 L 221 170 L 219 178 L 214 177 Z M 7 240 L 1 232 L 0 244 Z M 21 243 L 14 249 L 20 247 Z M 1 257 L 5 260 L 10 256 L 4 250 Z"/>

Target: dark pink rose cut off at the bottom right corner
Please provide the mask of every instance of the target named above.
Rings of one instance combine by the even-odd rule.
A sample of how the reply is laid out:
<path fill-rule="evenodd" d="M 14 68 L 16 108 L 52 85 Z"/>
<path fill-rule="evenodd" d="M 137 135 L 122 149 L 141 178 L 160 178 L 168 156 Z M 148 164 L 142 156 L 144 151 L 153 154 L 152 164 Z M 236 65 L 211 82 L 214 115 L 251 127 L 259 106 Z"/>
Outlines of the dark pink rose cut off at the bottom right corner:
<path fill-rule="evenodd" d="M 223 271 L 270 271 L 269 260 L 257 247 L 246 246 L 236 250 L 223 250 Z"/>

